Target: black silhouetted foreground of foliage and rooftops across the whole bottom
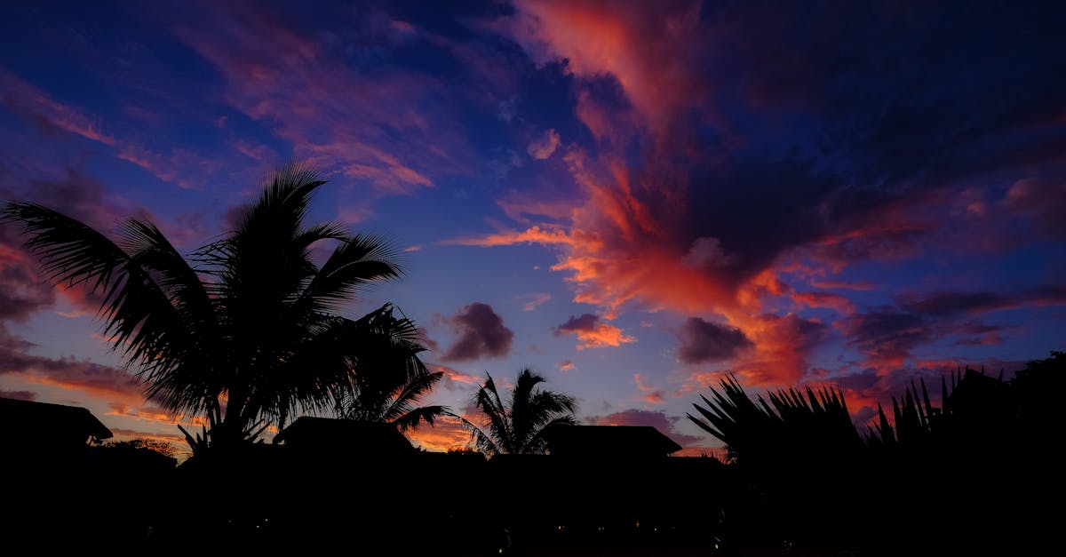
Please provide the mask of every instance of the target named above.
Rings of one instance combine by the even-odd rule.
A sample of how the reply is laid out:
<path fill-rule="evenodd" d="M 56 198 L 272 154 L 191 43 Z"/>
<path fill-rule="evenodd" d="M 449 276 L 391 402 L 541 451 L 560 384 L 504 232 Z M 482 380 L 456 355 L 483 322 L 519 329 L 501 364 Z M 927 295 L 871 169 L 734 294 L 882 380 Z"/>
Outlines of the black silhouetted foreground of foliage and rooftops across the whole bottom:
<path fill-rule="evenodd" d="M 0 534 L 44 554 L 1038 554 L 1061 515 L 1064 381 L 1060 352 L 1010 379 L 968 369 L 856 428 L 835 388 L 752 399 L 726 379 L 696 408 L 727 463 L 655 439 L 427 452 L 343 420 L 179 466 L 143 444 L 9 445 Z"/>

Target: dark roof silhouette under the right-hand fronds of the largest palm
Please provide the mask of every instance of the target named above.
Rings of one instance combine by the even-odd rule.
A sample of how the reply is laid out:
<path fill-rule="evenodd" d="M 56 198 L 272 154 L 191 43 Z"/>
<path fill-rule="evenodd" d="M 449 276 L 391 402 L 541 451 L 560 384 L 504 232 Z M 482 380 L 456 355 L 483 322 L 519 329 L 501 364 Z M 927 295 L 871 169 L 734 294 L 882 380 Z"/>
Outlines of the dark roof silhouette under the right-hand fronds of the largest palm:
<path fill-rule="evenodd" d="M 311 416 L 296 418 L 274 435 L 274 443 L 312 449 L 350 448 L 354 444 L 387 455 L 416 450 L 391 424 Z"/>

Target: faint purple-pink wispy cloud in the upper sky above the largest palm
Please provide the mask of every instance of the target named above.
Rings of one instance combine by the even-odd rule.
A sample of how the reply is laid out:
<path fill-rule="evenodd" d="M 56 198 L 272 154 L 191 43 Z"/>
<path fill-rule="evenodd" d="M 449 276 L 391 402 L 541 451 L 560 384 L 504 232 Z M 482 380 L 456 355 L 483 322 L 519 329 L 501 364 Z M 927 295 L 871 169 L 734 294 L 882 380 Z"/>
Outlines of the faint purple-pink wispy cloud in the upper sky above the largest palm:
<path fill-rule="evenodd" d="M 330 30 L 252 2 L 207 16 L 200 7 L 173 13 L 174 34 L 217 70 L 220 100 L 291 143 L 296 157 L 369 185 L 376 196 L 477 172 L 481 162 L 453 108 L 474 87 L 383 63 L 413 44 L 455 60 L 450 39 L 373 6 L 356 19 L 328 15 L 351 22 Z"/>

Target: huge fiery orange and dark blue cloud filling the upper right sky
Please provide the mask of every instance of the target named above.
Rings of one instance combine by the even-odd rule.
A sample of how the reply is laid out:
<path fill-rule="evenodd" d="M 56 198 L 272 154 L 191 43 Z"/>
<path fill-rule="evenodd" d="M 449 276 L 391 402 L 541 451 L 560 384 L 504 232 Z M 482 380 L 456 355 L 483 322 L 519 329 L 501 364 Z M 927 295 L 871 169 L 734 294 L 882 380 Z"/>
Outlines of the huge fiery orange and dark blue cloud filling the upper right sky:
<path fill-rule="evenodd" d="M 549 246 L 574 301 L 609 319 L 720 314 L 754 344 L 742 363 L 753 377 L 802 378 L 809 351 L 846 330 L 780 308 L 849 317 L 870 287 L 830 275 L 870 260 L 930 262 L 933 250 L 989 253 L 975 234 L 1017 245 L 1062 238 L 1066 80 L 1051 60 L 1066 51 L 1049 58 L 1027 31 L 1061 7 L 1001 6 L 941 28 L 949 12 L 926 5 L 904 22 L 886 6 L 820 9 L 824 32 L 811 33 L 798 7 L 518 2 L 498 29 L 572 76 L 593 144 L 559 147 L 580 189 L 569 211 L 508 198 L 522 229 L 463 243 Z M 901 25 L 927 32 L 901 35 Z M 926 55 L 930 44 L 938 49 Z M 1039 171 L 1018 181 L 1019 168 Z M 973 197 L 975 181 L 1007 193 Z M 982 217 L 996 203 L 1005 216 Z M 1044 223 L 1040 235 L 1017 232 L 1028 220 Z M 795 264 L 817 270 L 802 277 L 814 288 L 845 291 L 787 284 Z M 901 335 L 891 343 L 907 345 Z"/>

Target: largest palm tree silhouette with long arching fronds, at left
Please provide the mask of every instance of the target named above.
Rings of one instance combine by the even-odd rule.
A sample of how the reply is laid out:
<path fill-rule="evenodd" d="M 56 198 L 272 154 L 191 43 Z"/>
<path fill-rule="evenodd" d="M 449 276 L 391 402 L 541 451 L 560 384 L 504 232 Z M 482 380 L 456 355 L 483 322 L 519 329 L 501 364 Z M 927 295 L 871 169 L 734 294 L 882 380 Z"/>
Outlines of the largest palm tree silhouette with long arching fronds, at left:
<path fill-rule="evenodd" d="M 22 225 L 27 248 L 53 283 L 101 296 L 104 336 L 149 399 L 206 417 L 210 432 L 205 428 L 200 446 L 209 437 L 232 446 L 284 427 L 294 413 L 336 410 L 358 398 L 362 367 L 383 368 L 360 362 L 370 322 L 338 312 L 365 285 L 401 276 L 397 252 L 334 223 L 305 224 L 323 184 L 307 165 L 279 169 L 236 230 L 188 259 L 150 222 L 130 220 L 112 241 L 27 202 L 5 204 L 0 221 Z M 321 241 L 336 248 L 319 267 L 310 250 Z M 406 319 L 384 324 L 386 337 L 413 328 Z M 416 350 L 399 355 L 404 377 L 424 370 Z"/>

